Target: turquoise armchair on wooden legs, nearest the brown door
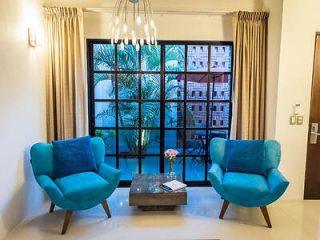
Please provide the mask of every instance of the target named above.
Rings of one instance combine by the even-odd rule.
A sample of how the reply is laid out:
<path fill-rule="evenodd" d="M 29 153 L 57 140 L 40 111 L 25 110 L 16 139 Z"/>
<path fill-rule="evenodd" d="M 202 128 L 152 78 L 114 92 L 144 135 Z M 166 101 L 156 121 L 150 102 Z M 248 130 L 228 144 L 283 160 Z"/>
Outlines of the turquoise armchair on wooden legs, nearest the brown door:
<path fill-rule="evenodd" d="M 268 227 L 271 228 L 266 206 L 280 198 L 289 184 L 278 170 L 281 158 L 280 144 L 275 140 L 264 141 L 264 167 L 267 176 L 263 176 L 244 172 L 226 172 L 227 141 L 214 138 L 210 143 L 212 167 L 208 178 L 214 189 L 224 199 L 219 218 L 223 218 L 230 202 L 244 207 L 260 207 Z"/>

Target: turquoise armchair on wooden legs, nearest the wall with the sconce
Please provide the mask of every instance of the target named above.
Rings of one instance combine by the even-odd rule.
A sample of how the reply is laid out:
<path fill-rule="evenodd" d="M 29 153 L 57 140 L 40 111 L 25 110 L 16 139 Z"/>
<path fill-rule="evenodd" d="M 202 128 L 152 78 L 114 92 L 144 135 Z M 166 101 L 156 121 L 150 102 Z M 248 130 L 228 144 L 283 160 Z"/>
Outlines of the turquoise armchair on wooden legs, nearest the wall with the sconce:
<path fill-rule="evenodd" d="M 51 200 L 50 213 L 55 205 L 66 210 L 62 234 L 68 228 L 73 211 L 102 204 L 111 217 L 107 198 L 117 188 L 121 171 L 104 163 L 105 145 L 101 138 L 91 138 L 97 172 L 82 172 L 56 178 L 52 144 L 37 143 L 31 148 L 31 163 L 36 181 Z"/>

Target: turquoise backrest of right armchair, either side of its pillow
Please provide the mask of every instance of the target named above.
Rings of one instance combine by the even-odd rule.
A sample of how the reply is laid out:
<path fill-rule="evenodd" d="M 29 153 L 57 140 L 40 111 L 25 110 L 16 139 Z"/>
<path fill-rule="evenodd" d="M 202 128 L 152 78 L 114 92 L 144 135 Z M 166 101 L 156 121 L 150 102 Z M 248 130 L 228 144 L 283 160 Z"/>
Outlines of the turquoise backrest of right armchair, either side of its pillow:
<path fill-rule="evenodd" d="M 211 161 L 218 163 L 224 170 L 226 168 L 225 150 L 227 141 L 223 138 L 213 138 L 210 142 Z M 264 141 L 264 159 L 267 171 L 271 168 L 278 168 L 281 159 L 281 145 L 278 141 Z"/>

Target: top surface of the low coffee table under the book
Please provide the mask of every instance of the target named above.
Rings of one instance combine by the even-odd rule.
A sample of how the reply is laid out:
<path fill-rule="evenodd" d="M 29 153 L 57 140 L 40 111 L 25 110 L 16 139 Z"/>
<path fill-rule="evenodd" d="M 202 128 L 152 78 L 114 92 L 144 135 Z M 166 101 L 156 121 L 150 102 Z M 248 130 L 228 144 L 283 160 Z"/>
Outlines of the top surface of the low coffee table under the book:
<path fill-rule="evenodd" d="M 172 179 L 173 180 L 173 179 Z M 176 180 L 182 182 L 180 176 L 176 177 Z M 186 189 L 180 189 L 175 192 L 166 192 L 160 188 L 160 184 L 169 182 L 171 179 L 167 178 L 167 174 L 137 174 L 134 176 L 130 194 L 142 194 L 142 193 L 153 193 L 153 194 L 172 194 L 172 193 L 184 193 Z"/>

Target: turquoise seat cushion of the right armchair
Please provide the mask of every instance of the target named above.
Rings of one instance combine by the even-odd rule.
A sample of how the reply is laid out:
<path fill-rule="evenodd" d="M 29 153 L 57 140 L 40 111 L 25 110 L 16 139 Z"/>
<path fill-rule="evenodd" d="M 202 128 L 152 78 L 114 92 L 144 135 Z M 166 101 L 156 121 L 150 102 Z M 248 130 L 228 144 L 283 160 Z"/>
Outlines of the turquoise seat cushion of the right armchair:
<path fill-rule="evenodd" d="M 266 178 L 258 174 L 226 172 L 222 186 L 231 195 L 246 200 L 256 200 L 270 193 Z"/>

